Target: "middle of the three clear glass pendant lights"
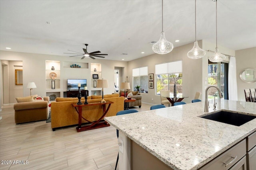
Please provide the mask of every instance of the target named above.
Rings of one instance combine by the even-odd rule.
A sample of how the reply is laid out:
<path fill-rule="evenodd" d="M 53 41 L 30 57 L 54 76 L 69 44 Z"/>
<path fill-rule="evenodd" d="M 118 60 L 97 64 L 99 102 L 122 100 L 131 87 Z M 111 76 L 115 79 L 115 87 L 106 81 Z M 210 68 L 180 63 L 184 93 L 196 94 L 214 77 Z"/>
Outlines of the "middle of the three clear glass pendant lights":
<path fill-rule="evenodd" d="M 195 0 L 195 35 L 196 35 L 196 0 Z M 195 40 L 194 47 L 192 48 L 192 50 L 188 51 L 187 56 L 190 59 L 200 59 L 204 57 L 205 54 L 206 54 L 205 51 L 198 46 L 198 43 Z"/>

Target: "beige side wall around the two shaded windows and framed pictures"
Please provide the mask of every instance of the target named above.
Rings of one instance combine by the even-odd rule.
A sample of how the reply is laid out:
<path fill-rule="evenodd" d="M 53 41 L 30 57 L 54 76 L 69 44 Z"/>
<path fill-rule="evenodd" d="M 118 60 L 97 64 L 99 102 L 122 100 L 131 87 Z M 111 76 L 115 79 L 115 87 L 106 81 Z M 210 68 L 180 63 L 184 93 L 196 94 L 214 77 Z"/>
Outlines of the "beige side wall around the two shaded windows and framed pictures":
<path fill-rule="evenodd" d="M 202 47 L 202 41 L 198 42 L 199 46 Z M 132 87 L 132 69 L 142 66 L 148 66 L 148 74 L 154 73 L 155 76 L 155 64 L 165 63 L 170 61 L 182 60 L 182 82 L 183 82 L 183 94 L 189 96 L 183 101 L 186 103 L 191 103 L 194 99 L 196 92 L 202 92 L 202 59 L 190 59 L 187 57 L 188 51 L 193 47 L 194 43 L 188 45 L 183 45 L 174 48 L 170 53 L 159 55 L 153 54 L 147 57 L 143 57 L 134 61 L 128 62 L 129 76 L 128 80 Z M 156 84 L 154 78 L 154 85 Z M 153 104 L 161 104 L 160 96 L 155 94 L 156 88 L 149 88 L 148 94 L 141 94 L 142 101 Z M 153 99 L 153 100 L 152 100 Z M 201 97 L 202 99 L 202 97 Z"/>

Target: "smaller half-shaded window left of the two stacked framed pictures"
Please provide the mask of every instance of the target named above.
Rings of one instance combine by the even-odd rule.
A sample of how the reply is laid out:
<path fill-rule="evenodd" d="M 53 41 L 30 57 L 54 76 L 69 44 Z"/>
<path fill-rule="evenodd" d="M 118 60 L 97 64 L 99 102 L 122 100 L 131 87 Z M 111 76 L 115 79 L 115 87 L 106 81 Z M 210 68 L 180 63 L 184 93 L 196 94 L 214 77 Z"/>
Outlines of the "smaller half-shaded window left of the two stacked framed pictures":
<path fill-rule="evenodd" d="M 148 92 L 148 66 L 132 69 L 133 89 L 140 86 L 139 92 Z"/>

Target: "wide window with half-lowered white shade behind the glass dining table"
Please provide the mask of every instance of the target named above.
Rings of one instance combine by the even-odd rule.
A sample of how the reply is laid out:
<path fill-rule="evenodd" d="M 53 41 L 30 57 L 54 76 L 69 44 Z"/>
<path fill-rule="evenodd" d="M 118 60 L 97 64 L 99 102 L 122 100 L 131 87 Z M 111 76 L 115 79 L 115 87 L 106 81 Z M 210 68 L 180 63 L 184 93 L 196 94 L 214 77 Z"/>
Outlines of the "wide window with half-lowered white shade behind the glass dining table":
<path fill-rule="evenodd" d="M 182 94 L 182 60 L 155 65 L 156 72 L 156 94 L 160 90 L 170 90 L 173 92 L 174 82 L 177 93 Z"/>

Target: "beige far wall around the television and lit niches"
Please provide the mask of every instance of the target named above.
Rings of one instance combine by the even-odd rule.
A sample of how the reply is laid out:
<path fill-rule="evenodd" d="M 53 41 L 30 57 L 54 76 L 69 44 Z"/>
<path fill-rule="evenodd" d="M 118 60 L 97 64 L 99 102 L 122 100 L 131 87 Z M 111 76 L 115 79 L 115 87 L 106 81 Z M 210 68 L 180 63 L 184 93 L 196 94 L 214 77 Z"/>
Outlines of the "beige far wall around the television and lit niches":
<path fill-rule="evenodd" d="M 85 78 L 87 84 L 91 84 L 90 76 L 90 63 L 102 64 L 102 78 L 108 80 L 109 88 L 104 89 L 104 94 L 114 93 L 114 67 L 124 67 L 123 75 L 126 77 L 128 72 L 128 62 L 125 61 L 110 61 L 101 59 L 83 59 L 78 57 L 64 57 L 56 55 L 43 55 L 33 53 L 19 53 L 10 51 L 0 51 L 1 60 L 6 61 L 22 61 L 23 63 L 23 96 L 30 95 L 30 89 L 26 88 L 28 82 L 35 82 L 36 88 L 32 90 L 32 94 L 38 94 L 39 96 L 46 96 L 46 60 L 60 61 L 60 96 L 63 96 L 63 92 L 67 90 L 67 79 L 68 78 Z M 77 69 L 77 72 L 70 72 L 68 68 L 63 67 L 63 62 L 73 63 L 89 63 L 89 68 Z M 3 70 L 1 70 L 2 72 Z M 111 74 L 110 74 L 111 73 Z M 4 74 L 4 73 L 3 73 Z M 9 73 L 8 73 L 9 74 Z M 9 77 L 9 76 L 8 76 Z M 1 79 L 2 80 L 2 79 Z M 2 81 L 1 81 L 2 82 Z M 5 82 L 5 81 L 4 81 Z M 90 86 L 88 86 L 90 94 Z M 56 91 L 56 90 L 55 90 Z M 2 91 L 1 91 L 2 94 Z M 5 99 L 6 97 L 4 97 Z M 14 101 L 14 96 L 8 101 Z M 2 101 L 2 95 L 0 100 Z M 14 99 L 14 100 L 13 100 Z M 9 102 L 10 103 L 10 102 Z"/>

